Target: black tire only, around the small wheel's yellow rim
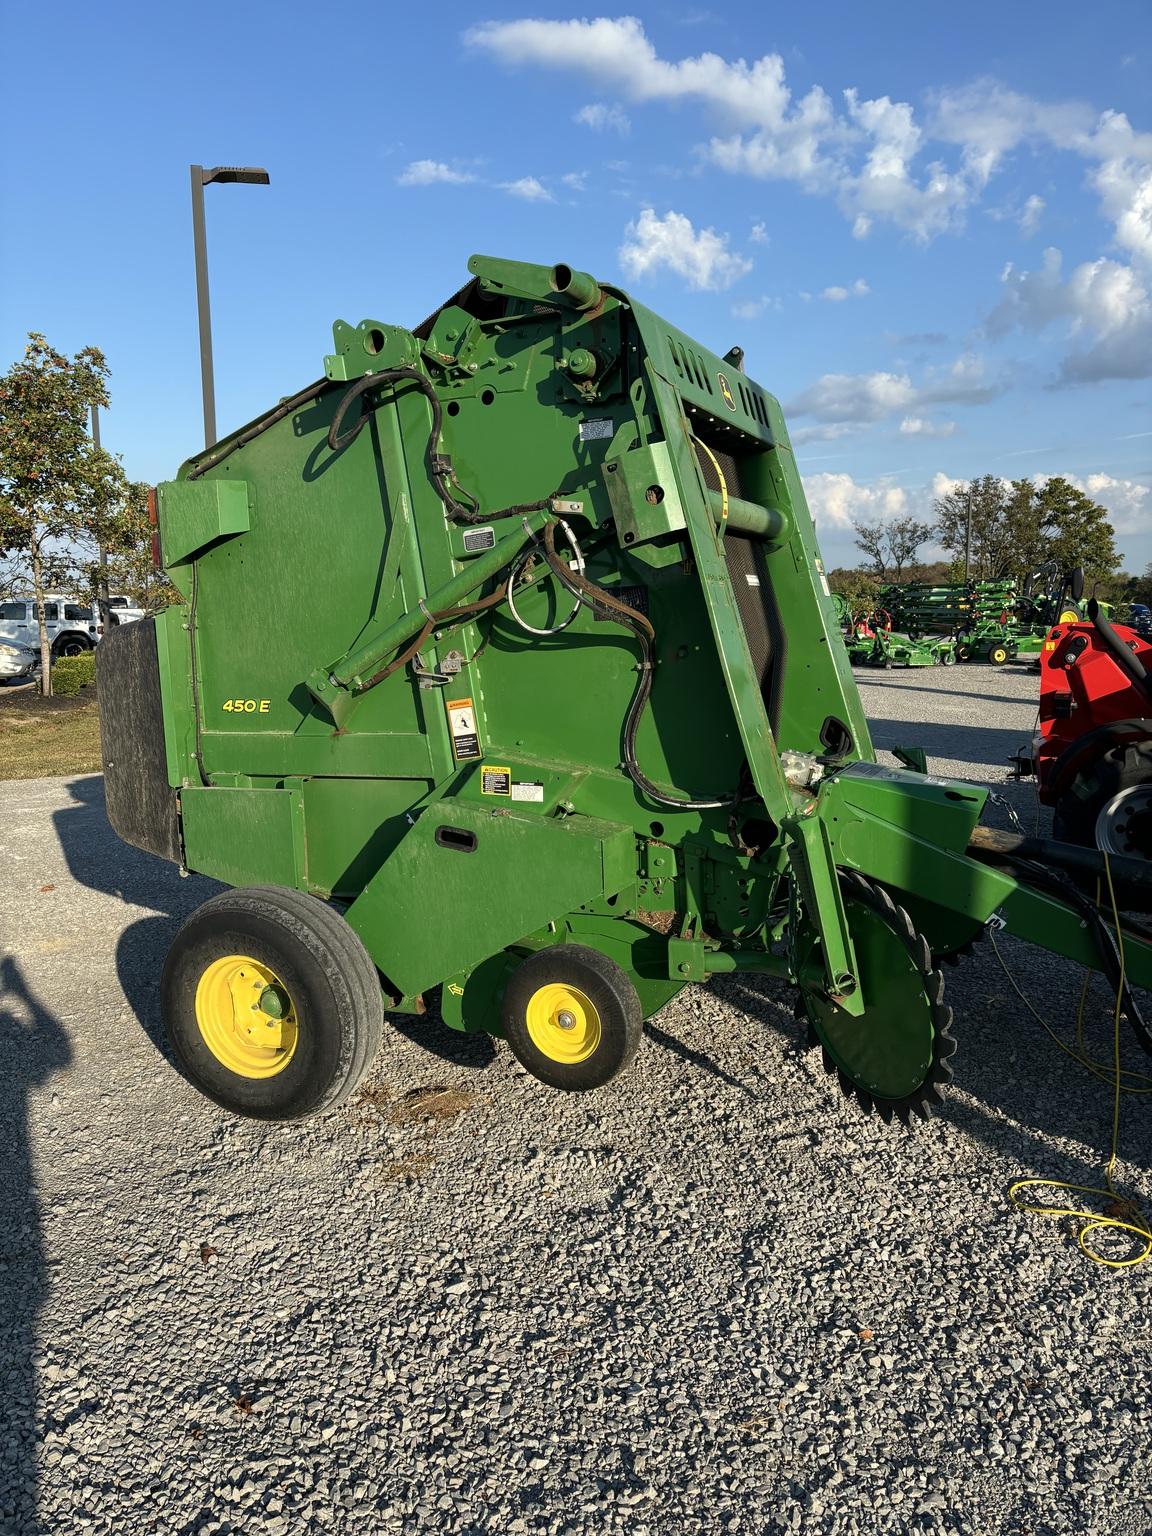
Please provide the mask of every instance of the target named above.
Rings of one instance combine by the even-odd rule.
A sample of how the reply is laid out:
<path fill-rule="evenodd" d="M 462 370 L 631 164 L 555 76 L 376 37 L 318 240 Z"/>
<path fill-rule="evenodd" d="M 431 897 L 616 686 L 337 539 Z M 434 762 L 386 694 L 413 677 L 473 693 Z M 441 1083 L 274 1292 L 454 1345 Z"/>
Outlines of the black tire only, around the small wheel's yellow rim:
<path fill-rule="evenodd" d="M 530 1005 L 535 1005 L 533 1012 L 544 1006 L 541 994 L 553 985 L 582 994 L 594 1011 L 594 1044 L 581 1060 L 565 1061 L 542 1049 L 541 1040 L 547 1035 L 541 1034 L 539 1023 L 533 1034 Z M 628 974 L 587 945 L 553 945 L 528 955 L 504 989 L 502 1023 L 508 1046 L 522 1068 L 548 1087 L 576 1094 L 602 1087 L 622 1072 L 639 1051 L 644 1034 L 641 1000 Z M 578 1031 L 573 1037 L 576 1046 L 584 1038 L 584 1025 L 581 1014 L 579 1025 L 568 1026 Z M 554 1034 L 554 1028 L 550 1026 L 548 1032 Z"/>

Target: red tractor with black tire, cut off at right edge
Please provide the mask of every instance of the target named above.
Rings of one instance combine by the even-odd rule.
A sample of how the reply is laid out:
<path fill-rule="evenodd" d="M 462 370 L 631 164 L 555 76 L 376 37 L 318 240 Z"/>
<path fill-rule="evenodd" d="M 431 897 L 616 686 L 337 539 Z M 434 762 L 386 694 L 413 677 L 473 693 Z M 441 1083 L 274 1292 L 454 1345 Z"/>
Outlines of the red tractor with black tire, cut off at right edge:
<path fill-rule="evenodd" d="M 1040 730 L 1020 774 L 1035 773 L 1069 843 L 1152 859 L 1152 641 L 1114 625 L 1055 624 L 1040 654 Z"/>

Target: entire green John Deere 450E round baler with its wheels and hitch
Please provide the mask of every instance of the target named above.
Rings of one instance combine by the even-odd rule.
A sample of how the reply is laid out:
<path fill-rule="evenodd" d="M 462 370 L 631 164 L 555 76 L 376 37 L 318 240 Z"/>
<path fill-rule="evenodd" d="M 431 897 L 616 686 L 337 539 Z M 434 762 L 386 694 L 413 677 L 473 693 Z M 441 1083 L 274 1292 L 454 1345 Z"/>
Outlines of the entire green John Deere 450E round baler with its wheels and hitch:
<path fill-rule="evenodd" d="M 100 647 L 112 825 L 232 888 L 160 980 L 181 1068 L 301 1118 L 439 989 L 593 1089 L 740 971 L 796 988 L 865 1109 L 926 1115 L 940 962 L 988 926 L 1118 977 L 1100 856 L 876 762 L 739 350 L 567 266 L 468 267 L 413 330 L 338 323 L 323 378 L 158 487 L 183 602 Z M 1121 903 L 1144 871 L 1112 859 Z"/>

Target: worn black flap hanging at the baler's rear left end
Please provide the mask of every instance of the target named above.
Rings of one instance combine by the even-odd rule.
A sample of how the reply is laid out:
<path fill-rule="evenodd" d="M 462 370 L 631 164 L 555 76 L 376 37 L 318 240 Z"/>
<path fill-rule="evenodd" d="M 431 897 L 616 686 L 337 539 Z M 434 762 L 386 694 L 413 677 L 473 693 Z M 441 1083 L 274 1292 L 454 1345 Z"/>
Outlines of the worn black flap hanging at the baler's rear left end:
<path fill-rule="evenodd" d="M 154 619 L 117 624 L 97 647 L 100 751 L 112 829 L 134 848 L 181 860 L 177 793 L 167 782 Z"/>

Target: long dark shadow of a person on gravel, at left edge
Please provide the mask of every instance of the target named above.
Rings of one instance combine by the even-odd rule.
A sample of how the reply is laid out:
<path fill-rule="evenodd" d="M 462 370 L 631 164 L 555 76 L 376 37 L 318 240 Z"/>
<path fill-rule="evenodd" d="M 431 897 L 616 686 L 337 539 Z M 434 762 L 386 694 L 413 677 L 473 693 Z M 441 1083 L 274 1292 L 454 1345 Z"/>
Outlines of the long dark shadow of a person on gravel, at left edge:
<path fill-rule="evenodd" d="M 40 1203 L 28 1134 L 29 1091 L 72 1049 L 17 962 L 0 960 L 0 1530 L 40 1536 L 37 1516 L 37 1319 L 48 1295 Z M 51 1427 L 51 1425 L 49 1425 Z"/>

